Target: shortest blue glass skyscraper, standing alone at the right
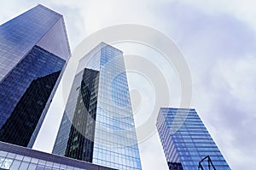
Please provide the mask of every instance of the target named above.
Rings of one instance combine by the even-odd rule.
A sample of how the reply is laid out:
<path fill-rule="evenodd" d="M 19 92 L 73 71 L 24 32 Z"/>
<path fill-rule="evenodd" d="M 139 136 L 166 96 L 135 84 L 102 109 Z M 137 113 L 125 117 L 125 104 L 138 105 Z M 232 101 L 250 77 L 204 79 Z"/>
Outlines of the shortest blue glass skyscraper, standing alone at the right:
<path fill-rule="evenodd" d="M 230 170 L 195 109 L 161 108 L 157 129 L 170 169 L 197 170 L 209 156 L 212 163 L 201 161 L 203 169 Z"/>

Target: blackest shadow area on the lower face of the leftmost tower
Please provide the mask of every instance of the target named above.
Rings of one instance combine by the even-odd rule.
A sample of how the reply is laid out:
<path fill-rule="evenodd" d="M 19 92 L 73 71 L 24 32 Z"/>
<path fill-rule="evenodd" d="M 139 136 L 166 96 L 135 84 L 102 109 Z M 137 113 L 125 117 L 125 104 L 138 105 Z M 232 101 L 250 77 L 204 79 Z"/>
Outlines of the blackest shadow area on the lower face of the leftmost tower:
<path fill-rule="evenodd" d="M 0 129 L 0 140 L 26 146 L 61 71 L 33 80 Z"/>

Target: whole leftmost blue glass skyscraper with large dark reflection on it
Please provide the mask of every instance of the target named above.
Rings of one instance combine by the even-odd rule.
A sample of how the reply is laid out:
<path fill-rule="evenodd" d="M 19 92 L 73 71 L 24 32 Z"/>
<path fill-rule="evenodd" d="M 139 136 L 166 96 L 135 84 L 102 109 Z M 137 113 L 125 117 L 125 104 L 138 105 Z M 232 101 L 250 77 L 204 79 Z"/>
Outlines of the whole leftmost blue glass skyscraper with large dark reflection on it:
<path fill-rule="evenodd" d="M 38 5 L 0 26 L 0 140 L 32 147 L 70 57 L 61 14 Z"/>

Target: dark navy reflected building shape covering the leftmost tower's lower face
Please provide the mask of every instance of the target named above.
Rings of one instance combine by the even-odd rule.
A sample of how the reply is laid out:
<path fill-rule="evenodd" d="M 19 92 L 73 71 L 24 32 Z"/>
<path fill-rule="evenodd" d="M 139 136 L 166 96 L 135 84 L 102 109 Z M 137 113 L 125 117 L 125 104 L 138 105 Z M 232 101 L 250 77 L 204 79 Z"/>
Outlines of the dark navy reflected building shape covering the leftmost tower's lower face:
<path fill-rule="evenodd" d="M 64 59 L 50 54 L 43 48 L 35 46 L 30 53 L 9 72 L 9 75 L 3 79 L 0 84 L 0 140 L 26 146 L 27 139 L 31 138 L 31 132 L 33 132 L 32 128 L 35 128 L 38 118 L 41 116 L 40 114 L 42 114 L 49 100 L 50 94 L 54 93 L 52 90 L 55 87 L 55 82 L 64 65 Z M 44 95 L 38 95 L 39 93 L 43 93 Z M 37 109 L 35 107 L 37 107 Z M 41 112 L 39 113 L 39 111 Z M 28 118 L 28 122 L 25 122 L 26 116 L 29 114 L 31 117 Z M 18 123 L 17 126 L 22 126 L 10 126 L 10 124 L 16 124 L 16 122 L 11 123 L 11 120 L 15 120 L 14 117 L 18 116 L 20 116 L 20 122 L 23 122 L 23 124 Z M 32 120 L 35 122 L 32 122 Z M 26 129 L 26 127 L 30 130 Z M 17 129 L 20 129 L 18 132 L 20 132 L 21 129 L 22 132 L 27 132 L 20 133 L 19 138 L 18 136 L 11 137 L 12 134 L 19 134 L 16 132 Z M 22 137 L 23 134 L 26 135 Z M 22 139 L 26 140 L 21 141 Z"/>

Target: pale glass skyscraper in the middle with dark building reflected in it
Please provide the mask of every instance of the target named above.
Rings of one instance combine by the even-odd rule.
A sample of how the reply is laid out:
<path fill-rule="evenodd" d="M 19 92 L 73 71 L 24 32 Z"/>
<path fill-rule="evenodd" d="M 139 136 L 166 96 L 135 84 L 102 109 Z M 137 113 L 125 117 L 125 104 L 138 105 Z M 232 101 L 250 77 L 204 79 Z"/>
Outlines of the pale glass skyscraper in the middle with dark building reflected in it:
<path fill-rule="evenodd" d="M 53 153 L 142 169 L 123 53 L 102 42 L 79 60 Z"/>

